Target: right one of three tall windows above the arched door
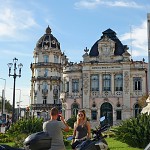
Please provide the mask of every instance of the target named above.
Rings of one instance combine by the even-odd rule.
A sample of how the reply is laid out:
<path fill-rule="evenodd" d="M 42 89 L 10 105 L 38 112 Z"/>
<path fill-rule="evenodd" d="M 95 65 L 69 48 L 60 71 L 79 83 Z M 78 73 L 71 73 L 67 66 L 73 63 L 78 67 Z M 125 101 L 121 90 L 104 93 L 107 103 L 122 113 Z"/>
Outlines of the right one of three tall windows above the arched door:
<path fill-rule="evenodd" d="M 123 91 L 123 76 L 122 76 L 122 74 L 115 75 L 115 91 Z"/>

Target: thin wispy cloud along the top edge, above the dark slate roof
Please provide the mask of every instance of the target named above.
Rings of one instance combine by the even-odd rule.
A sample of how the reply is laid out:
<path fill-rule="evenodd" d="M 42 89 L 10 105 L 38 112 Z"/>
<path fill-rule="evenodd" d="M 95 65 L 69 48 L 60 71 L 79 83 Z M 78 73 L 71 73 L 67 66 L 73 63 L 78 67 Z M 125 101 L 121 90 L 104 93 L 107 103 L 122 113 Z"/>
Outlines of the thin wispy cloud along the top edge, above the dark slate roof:
<path fill-rule="evenodd" d="M 94 9 L 99 5 L 105 5 L 109 7 L 129 7 L 129 8 L 142 8 L 143 6 L 138 5 L 134 1 L 124 1 L 124 0 L 116 0 L 116 1 L 107 1 L 107 0 L 80 0 L 75 3 L 75 8 L 81 9 Z"/>

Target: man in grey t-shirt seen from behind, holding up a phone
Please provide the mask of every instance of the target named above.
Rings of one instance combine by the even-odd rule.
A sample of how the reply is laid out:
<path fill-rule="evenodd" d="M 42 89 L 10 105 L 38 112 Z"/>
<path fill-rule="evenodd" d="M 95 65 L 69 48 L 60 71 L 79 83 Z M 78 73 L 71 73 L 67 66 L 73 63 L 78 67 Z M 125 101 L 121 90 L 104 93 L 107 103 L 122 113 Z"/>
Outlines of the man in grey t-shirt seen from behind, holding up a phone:
<path fill-rule="evenodd" d="M 58 117 L 60 121 L 57 120 Z M 58 109 L 53 107 L 50 111 L 50 120 L 43 123 L 43 131 L 52 137 L 50 150 L 65 150 L 62 130 L 69 131 L 69 126 Z"/>

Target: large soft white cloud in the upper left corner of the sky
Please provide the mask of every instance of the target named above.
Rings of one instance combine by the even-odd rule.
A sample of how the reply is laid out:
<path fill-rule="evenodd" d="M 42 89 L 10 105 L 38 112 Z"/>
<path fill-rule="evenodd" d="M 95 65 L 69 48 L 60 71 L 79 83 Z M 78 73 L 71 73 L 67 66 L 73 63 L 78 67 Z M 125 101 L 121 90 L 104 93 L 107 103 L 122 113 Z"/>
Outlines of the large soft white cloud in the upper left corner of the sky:
<path fill-rule="evenodd" d="M 0 6 L 0 38 L 21 39 L 21 31 L 36 25 L 32 12 L 20 8 L 13 8 L 7 3 Z"/>

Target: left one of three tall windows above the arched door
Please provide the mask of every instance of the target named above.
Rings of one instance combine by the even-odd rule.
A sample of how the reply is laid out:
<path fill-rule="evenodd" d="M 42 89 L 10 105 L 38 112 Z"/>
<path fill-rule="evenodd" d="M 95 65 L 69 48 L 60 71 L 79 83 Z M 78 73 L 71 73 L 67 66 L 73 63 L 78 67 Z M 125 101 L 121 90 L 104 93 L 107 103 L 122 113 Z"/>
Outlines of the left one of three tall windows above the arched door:
<path fill-rule="evenodd" d="M 91 91 L 99 91 L 99 76 L 91 75 Z"/>

